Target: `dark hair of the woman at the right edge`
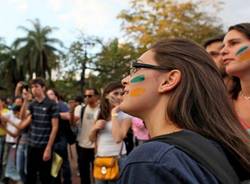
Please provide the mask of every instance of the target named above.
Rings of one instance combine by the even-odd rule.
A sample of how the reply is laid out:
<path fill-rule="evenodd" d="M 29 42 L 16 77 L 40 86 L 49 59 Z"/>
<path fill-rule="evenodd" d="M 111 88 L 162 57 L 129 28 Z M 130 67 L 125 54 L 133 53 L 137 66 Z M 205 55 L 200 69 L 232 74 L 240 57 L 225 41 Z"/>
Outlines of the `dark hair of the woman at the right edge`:
<path fill-rule="evenodd" d="M 241 23 L 230 26 L 228 28 L 228 32 L 236 30 L 245 35 L 250 41 L 250 23 Z M 231 90 L 229 91 L 230 96 L 233 100 L 237 100 L 239 93 L 241 91 L 240 79 L 238 77 L 233 77 L 233 85 Z"/>

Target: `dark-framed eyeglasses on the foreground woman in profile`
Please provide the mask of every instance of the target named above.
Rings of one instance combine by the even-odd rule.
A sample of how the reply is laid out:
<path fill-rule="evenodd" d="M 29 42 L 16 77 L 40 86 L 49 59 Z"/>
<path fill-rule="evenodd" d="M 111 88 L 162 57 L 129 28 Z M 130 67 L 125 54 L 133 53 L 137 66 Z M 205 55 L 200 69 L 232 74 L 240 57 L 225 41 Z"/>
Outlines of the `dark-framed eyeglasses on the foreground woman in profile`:
<path fill-rule="evenodd" d="M 173 69 L 171 67 L 150 65 L 150 64 L 139 63 L 137 61 L 134 61 L 131 63 L 131 68 L 130 68 L 129 74 L 134 75 L 138 71 L 139 68 L 148 68 L 148 69 L 152 69 L 152 70 L 164 70 L 164 71 Z"/>

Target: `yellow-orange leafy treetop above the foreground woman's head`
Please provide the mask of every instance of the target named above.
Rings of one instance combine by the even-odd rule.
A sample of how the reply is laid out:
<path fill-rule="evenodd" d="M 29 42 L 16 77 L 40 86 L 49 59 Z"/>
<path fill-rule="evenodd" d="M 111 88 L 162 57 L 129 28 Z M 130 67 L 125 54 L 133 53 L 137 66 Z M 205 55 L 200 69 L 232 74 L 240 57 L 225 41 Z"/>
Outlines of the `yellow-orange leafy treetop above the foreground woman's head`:
<path fill-rule="evenodd" d="M 140 47 L 147 47 L 160 38 L 187 38 L 201 43 L 222 33 L 222 25 L 211 12 L 221 2 L 177 0 L 131 0 L 131 7 L 118 18 L 122 29 Z M 208 11 L 209 10 L 209 11 Z"/>

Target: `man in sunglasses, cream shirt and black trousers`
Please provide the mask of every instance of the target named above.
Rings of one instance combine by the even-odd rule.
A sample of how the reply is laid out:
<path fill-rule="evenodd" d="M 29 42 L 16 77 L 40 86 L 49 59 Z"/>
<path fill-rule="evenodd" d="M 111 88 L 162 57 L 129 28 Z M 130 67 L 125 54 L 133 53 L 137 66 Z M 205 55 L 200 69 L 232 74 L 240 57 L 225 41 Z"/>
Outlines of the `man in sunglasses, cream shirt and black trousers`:
<path fill-rule="evenodd" d="M 84 92 L 84 98 L 86 106 L 82 112 L 83 115 L 81 115 L 79 111 L 77 116 L 81 119 L 79 125 L 80 130 L 77 137 L 77 154 L 81 184 L 90 184 L 95 145 L 89 140 L 89 133 L 99 113 L 99 93 L 94 88 L 88 88 Z"/>

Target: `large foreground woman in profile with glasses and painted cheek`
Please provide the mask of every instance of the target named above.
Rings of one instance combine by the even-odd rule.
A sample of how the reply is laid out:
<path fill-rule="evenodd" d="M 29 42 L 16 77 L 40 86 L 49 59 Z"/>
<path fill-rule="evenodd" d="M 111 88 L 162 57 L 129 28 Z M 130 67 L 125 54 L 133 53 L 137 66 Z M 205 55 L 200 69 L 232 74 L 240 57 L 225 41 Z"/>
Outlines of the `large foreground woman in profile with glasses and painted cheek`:
<path fill-rule="evenodd" d="M 151 141 L 129 154 L 119 184 L 221 183 L 195 158 L 174 144 L 159 141 L 159 137 L 187 133 L 198 134 L 222 153 L 234 156 L 249 176 L 250 149 L 245 142 L 249 135 L 238 122 L 221 75 L 203 48 L 182 39 L 162 40 L 132 64 L 122 83 L 125 93 L 120 108 L 144 120 Z M 222 156 L 233 173 L 228 183 L 239 183 L 232 163 L 224 153 Z"/>

